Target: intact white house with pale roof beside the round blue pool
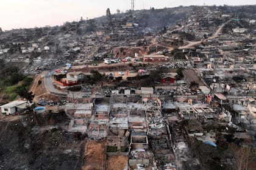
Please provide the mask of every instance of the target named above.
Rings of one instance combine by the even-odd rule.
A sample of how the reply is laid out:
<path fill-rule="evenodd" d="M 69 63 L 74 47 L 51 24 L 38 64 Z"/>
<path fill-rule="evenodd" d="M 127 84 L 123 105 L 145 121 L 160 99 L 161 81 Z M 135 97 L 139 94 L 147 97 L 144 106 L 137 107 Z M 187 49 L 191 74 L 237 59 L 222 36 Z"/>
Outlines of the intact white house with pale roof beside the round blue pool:
<path fill-rule="evenodd" d="M 11 103 L 4 104 L 1 107 L 2 114 L 10 115 L 15 114 L 19 110 L 27 108 L 27 101 L 12 101 Z"/>

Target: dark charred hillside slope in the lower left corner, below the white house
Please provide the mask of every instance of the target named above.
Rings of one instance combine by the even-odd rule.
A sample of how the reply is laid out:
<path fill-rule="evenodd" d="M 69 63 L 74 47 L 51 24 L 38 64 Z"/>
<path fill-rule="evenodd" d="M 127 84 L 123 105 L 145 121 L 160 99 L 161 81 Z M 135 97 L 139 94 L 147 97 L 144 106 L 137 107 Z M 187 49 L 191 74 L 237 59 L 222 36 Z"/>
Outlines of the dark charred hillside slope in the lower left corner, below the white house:
<path fill-rule="evenodd" d="M 0 169 L 80 169 L 84 136 L 68 122 L 64 112 L 0 121 Z"/>

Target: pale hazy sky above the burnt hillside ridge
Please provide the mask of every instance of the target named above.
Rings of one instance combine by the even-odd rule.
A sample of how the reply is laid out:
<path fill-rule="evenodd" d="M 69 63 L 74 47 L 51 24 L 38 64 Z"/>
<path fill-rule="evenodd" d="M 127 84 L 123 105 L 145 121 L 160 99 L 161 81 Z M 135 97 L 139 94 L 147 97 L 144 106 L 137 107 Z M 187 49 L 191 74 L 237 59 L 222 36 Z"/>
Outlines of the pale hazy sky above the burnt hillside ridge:
<path fill-rule="evenodd" d="M 249 5 L 255 0 L 135 0 L 135 10 L 154 7 L 176 7 L 179 5 Z M 0 0 L 0 27 L 3 30 L 61 25 L 65 21 L 77 21 L 105 15 L 116 9 L 125 12 L 130 9 L 130 0 Z"/>

